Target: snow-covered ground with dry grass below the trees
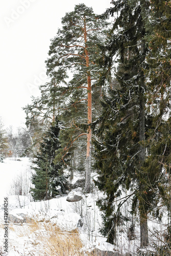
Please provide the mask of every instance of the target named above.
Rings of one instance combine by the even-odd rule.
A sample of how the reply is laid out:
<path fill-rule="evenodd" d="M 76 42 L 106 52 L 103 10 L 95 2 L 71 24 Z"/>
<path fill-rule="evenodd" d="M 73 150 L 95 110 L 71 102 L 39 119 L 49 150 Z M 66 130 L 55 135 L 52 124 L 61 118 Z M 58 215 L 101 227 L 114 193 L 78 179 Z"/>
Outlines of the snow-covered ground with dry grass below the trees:
<path fill-rule="evenodd" d="M 20 158 L 20 161 L 5 159 L 4 163 L 0 163 L 0 255 L 2 255 L 1 251 L 4 251 L 4 227 L 6 225 L 4 220 L 4 198 L 7 196 L 9 215 L 12 221 L 8 226 L 9 256 L 65 255 L 50 251 L 52 247 L 51 240 L 52 237 L 59 236 L 60 245 L 62 240 L 67 240 L 69 239 L 68 236 L 73 235 L 72 230 L 78 230 L 78 234 L 74 233 L 74 236 L 78 236 L 79 241 L 81 241 L 82 254 L 80 254 L 80 251 L 79 253 L 70 251 L 66 255 L 88 255 L 88 252 L 91 252 L 94 248 L 114 252 L 113 255 L 115 256 L 130 255 L 129 253 L 132 256 L 138 255 L 137 249 L 140 245 L 138 221 L 135 225 L 135 239 L 132 241 L 129 241 L 127 237 L 128 224 L 117 229 L 118 239 L 115 246 L 106 243 L 106 238 L 101 236 L 99 229 L 102 226 L 102 219 L 96 201 L 99 197 L 102 197 L 102 194 L 97 189 L 94 189 L 92 194 L 81 194 L 82 200 L 79 202 L 68 202 L 67 196 L 59 196 L 42 202 L 31 202 L 28 187 L 30 176 L 31 168 L 28 158 Z M 80 177 L 76 174 L 72 183 L 76 182 L 78 178 Z M 18 180 L 20 183 L 26 182 L 26 184 L 22 184 L 22 187 L 24 185 L 22 189 L 24 189 L 25 196 L 15 195 L 14 183 L 15 185 L 18 184 Z M 17 189 L 20 189 L 20 187 Z M 81 193 L 80 189 L 75 190 L 79 190 L 79 193 Z M 128 212 L 128 209 L 129 205 L 125 205 L 125 208 L 123 208 L 125 212 Z M 26 217 L 27 221 L 25 221 Z M 13 223 L 15 218 L 18 223 Z M 15 222 L 17 222 L 16 220 Z M 167 221 L 166 217 L 165 220 Z M 164 225 L 151 219 L 148 221 L 148 226 L 150 243 L 152 245 L 153 242 L 162 244 Z M 155 230 L 161 232 L 157 233 Z M 78 244 L 79 241 L 75 243 Z M 55 243 L 57 243 L 56 240 Z M 153 250 L 153 247 L 148 247 L 148 249 Z"/>

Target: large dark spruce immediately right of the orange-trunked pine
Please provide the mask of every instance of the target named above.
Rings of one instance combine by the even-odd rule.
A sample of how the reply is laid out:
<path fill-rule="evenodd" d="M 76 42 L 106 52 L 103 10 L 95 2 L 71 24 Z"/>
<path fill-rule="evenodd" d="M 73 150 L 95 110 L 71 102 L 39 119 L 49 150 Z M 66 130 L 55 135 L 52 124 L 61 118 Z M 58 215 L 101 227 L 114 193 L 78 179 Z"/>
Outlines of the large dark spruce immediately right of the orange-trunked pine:
<path fill-rule="evenodd" d="M 121 206 L 132 198 L 132 212 L 139 208 L 141 247 L 148 245 L 147 212 L 149 193 L 146 187 L 145 132 L 148 120 L 145 115 L 145 78 L 143 63 L 146 55 L 145 18 L 148 11 L 146 1 L 113 1 L 114 7 L 106 14 L 115 16 L 115 23 L 108 45 L 104 48 L 105 75 L 114 68 L 114 56 L 118 56 L 117 82 L 112 83 L 102 100 L 102 116 L 95 142 L 96 168 L 99 170 L 99 189 L 105 199 L 99 200 L 104 212 L 103 234 L 114 243 L 116 226 L 126 220 Z M 117 13 L 117 14 L 116 14 Z M 111 79 L 111 78 L 110 78 Z M 130 196 L 115 205 L 123 191 Z"/>

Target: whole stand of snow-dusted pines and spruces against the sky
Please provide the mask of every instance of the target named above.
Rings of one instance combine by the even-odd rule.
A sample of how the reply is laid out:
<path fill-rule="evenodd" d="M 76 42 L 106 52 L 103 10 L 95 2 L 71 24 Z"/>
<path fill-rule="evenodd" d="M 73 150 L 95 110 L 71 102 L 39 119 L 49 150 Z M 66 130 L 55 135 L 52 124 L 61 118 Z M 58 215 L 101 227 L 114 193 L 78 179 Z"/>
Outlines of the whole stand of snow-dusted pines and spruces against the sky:
<path fill-rule="evenodd" d="M 171 255 L 171 1 L 111 4 L 61 19 L 25 128 L 0 121 L 0 161 L 30 158 L 34 202 L 66 196 L 75 175 L 82 194 L 98 191 L 98 231 L 115 252 L 65 255 Z M 122 235 L 137 241 L 129 252 Z"/>

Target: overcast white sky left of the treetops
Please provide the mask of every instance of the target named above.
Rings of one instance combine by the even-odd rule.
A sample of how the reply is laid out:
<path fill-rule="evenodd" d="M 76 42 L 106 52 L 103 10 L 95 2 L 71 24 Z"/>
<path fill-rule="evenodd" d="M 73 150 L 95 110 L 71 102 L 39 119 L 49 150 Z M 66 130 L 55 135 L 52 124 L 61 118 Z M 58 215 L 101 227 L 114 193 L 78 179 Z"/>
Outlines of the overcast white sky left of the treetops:
<path fill-rule="evenodd" d="M 24 126 L 22 107 L 46 82 L 45 60 L 61 17 L 84 3 L 97 14 L 111 0 L 8 0 L 1 2 L 0 116 L 5 127 Z"/>

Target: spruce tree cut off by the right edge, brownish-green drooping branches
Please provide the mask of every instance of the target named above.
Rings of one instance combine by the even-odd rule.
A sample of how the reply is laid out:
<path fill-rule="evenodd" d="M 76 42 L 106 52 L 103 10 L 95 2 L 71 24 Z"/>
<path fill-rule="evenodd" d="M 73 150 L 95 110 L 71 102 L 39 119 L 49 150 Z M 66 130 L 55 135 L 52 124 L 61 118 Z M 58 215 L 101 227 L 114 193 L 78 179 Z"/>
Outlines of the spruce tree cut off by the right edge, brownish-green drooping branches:
<path fill-rule="evenodd" d="M 145 171 L 150 172 L 160 182 L 151 182 L 156 199 L 162 200 L 168 210 L 168 227 L 165 246 L 160 253 L 170 252 L 170 40 L 171 40 L 171 5 L 170 1 L 153 1 L 147 27 L 146 37 L 149 45 L 144 73 L 147 80 L 147 108 L 151 114 L 152 128 L 148 130 L 148 158 Z M 158 188 L 158 189 L 157 189 Z M 157 202 L 155 202 L 156 205 Z M 159 204 L 158 204 L 159 205 Z M 162 216 L 163 209 L 156 206 L 156 216 Z"/>

